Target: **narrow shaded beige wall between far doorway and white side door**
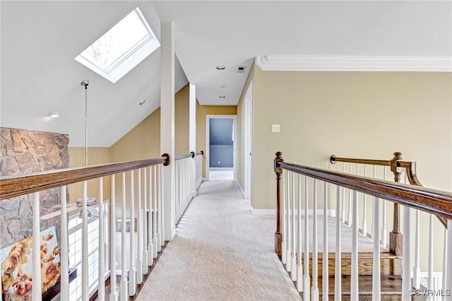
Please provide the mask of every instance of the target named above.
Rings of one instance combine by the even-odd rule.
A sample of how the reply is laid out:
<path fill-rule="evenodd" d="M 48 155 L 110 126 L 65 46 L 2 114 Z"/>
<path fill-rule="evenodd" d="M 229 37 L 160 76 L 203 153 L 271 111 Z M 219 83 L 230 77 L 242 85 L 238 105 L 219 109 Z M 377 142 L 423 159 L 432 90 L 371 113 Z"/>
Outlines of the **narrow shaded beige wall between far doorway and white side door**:
<path fill-rule="evenodd" d="M 245 153 L 245 96 L 249 85 L 254 81 L 255 65 L 251 66 L 248 78 L 246 78 L 245 85 L 240 95 L 239 103 L 237 104 L 237 164 L 235 168 L 235 177 L 239 185 L 244 189 L 244 153 Z"/>

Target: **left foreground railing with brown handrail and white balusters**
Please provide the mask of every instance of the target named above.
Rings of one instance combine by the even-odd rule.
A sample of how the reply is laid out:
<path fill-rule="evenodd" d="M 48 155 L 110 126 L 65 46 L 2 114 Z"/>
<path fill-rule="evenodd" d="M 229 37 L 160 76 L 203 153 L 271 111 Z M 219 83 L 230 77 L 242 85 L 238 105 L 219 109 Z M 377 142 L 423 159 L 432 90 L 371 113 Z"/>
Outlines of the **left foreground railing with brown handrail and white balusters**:
<path fill-rule="evenodd" d="M 97 199 L 104 201 L 103 182 L 109 177 L 111 196 L 109 200 L 109 220 L 103 220 L 103 206 L 99 206 L 99 259 L 97 298 L 98 300 L 129 300 L 129 295 L 136 294 L 137 285 L 143 283 L 153 266 L 158 252 L 165 246 L 164 214 L 162 203 L 162 170 L 169 165 L 169 155 L 162 158 L 138 160 L 127 163 L 110 163 L 88 167 L 68 168 L 49 172 L 37 172 L 28 175 L 0 177 L 0 200 L 16 196 L 32 194 L 32 300 L 41 300 L 41 259 L 40 259 L 40 192 L 46 189 L 61 187 L 61 281 L 60 298 L 69 300 L 69 249 L 68 249 L 68 216 L 66 204 L 67 191 L 70 184 L 83 183 L 82 217 L 82 300 L 90 300 L 88 271 L 88 181 L 98 181 Z M 126 174 L 129 174 L 127 177 Z M 118 181 L 119 179 L 119 181 Z M 119 191 L 119 193 L 117 193 Z M 121 199 L 121 223 L 117 223 L 117 199 Z M 102 203 L 102 202 L 100 202 Z M 129 211 L 126 208 L 129 204 Z M 138 208 L 134 208 L 138 204 Z M 93 218 L 90 218 L 92 220 Z M 105 225 L 109 224 L 108 227 Z M 102 243 L 109 232 L 109 250 Z M 121 259 L 116 252 L 117 232 L 121 232 Z M 136 235 L 134 235 L 136 233 Z M 138 242 L 136 242 L 136 238 Z M 105 271 L 105 255 L 109 253 L 109 270 Z M 126 262 L 126 252 L 130 252 L 130 264 Z M 117 291 L 117 262 L 121 263 L 120 293 Z M 128 268 L 129 266 L 129 268 Z M 105 296 L 105 278 L 109 272 L 110 295 Z"/>

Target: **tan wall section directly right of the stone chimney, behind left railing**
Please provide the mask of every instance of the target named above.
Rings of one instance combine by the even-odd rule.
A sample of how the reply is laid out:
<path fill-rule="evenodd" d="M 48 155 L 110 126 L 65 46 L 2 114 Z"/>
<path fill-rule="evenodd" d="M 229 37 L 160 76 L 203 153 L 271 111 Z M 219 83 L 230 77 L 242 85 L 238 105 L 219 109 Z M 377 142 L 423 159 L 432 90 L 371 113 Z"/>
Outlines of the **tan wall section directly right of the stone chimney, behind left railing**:
<path fill-rule="evenodd" d="M 110 148 L 88 148 L 88 165 L 98 165 L 110 163 Z M 69 167 L 85 166 L 85 148 L 69 148 Z M 110 197 L 110 179 L 105 177 L 103 183 L 104 199 Z M 83 196 L 82 183 L 69 185 L 69 202 L 74 203 Z M 88 181 L 88 196 L 94 196 L 99 199 L 99 180 L 91 179 Z"/>

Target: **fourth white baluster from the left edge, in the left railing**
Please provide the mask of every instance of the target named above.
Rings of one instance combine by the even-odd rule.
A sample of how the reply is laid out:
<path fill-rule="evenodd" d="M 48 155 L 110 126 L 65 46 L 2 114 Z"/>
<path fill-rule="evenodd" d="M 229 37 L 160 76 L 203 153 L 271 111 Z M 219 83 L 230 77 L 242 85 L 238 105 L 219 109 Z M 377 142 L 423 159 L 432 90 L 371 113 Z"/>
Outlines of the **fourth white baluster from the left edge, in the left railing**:
<path fill-rule="evenodd" d="M 105 220 L 104 220 L 104 182 L 99 178 L 99 279 L 97 281 L 97 296 L 105 300 Z"/>

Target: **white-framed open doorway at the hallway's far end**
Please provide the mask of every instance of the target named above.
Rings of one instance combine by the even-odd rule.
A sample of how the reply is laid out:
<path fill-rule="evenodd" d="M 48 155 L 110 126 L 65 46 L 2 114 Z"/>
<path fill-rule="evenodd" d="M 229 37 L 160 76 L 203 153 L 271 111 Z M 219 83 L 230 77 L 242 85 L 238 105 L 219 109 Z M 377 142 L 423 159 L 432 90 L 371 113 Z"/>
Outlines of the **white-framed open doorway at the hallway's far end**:
<path fill-rule="evenodd" d="M 206 179 L 235 179 L 236 124 L 236 115 L 206 116 Z"/>

